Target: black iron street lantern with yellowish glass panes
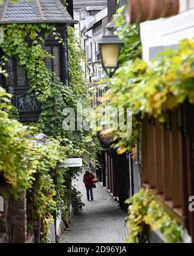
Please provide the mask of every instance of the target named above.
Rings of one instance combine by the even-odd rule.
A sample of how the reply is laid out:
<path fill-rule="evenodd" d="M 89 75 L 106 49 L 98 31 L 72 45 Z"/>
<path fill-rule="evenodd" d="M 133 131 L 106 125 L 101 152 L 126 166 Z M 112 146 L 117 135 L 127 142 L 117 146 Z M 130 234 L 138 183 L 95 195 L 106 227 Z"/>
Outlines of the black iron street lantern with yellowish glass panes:
<path fill-rule="evenodd" d="M 122 41 L 114 34 L 114 25 L 109 24 L 106 27 L 105 35 L 99 42 L 100 54 L 102 57 L 102 66 L 109 77 L 113 76 L 118 67 L 118 58 L 122 48 Z"/>

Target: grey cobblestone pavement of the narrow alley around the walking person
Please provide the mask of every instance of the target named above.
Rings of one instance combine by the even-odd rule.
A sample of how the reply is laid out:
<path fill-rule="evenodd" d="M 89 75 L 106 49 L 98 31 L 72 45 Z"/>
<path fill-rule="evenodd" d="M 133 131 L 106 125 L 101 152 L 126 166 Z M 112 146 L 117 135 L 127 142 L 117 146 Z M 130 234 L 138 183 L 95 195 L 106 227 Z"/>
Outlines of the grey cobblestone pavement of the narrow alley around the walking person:
<path fill-rule="evenodd" d="M 83 174 L 76 181 L 77 189 L 82 194 L 82 215 L 74 215 L 69 231 L 63 233 L 61 243 L 122 243 L 128 237 L 125 216 L 109 192 L 99 184 L 93 189 L 94 201 L 87 201 L 83 184 Z"/>

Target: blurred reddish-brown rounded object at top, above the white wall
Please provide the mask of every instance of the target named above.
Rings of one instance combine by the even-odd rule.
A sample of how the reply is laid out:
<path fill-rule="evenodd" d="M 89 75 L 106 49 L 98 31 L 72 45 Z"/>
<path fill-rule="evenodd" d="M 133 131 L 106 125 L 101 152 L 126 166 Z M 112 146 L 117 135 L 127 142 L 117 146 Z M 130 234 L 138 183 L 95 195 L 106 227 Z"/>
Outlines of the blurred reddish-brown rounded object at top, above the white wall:
<path fill-rule="evenodd" d="M 160 17 L 175 16 L 179 11 L 179 0 L 127 0 L 127 22 L 140 23 Z"/>

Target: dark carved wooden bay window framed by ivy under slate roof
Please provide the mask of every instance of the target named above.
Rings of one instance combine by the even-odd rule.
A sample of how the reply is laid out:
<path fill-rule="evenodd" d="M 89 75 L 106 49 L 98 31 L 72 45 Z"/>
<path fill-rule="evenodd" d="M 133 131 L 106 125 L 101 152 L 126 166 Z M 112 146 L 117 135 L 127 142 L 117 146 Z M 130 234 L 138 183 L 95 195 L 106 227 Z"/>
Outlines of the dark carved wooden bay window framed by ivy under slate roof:
<path fill-rule="evenodd" d="M 66 41 L 65 28 L 60 27 L 59 32 L 61 30 L 63 30 L 63 39 Z M 27 41 L 31 43 L 28 38 Z M 58 41 L 49 36 L 45 42 L 45 51 L 54 56 L 54 58 L 45 58 L 48 69 L 55 73 L 61 82 L 69 85 L 67 45 L 59 45 Z M 1 76 L 2 84 L 6 91 L 13 95 L 12 104 L 19 110 L 20 121 L 24 123 L 38 121 L 41 104 L 35 96 L 28 94 L 30 80 L 25 68 L 17 64 L 16 58 L 8 58 L 5 69 L 8 77 Z"/>

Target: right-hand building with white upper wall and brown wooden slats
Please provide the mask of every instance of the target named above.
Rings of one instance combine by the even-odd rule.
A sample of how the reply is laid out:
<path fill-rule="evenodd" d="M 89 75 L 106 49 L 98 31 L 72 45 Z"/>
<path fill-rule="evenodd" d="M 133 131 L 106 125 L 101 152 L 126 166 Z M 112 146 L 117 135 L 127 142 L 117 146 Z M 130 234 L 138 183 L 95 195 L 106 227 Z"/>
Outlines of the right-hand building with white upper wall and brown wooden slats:
<path fill-rule="evenodd" d="M 156 58 L 158 52 L 193 38 L 194 3 L 180 0 L 179 5 L 176 16 L 140 23 L 142 57 L 147 63 Z M 169 111 L 166 124 L 161 125 L 154 119 L 142 122 L 144 186 L 155 192 L 166 211 L 186 227 L 189 235 L 184 235 L 185 242 L 194 239 L 194 215 L 188 210 L 188 198 L 194 195 L 193 113 L 193 104 L 184 102 Z M 151 240 L 160 239 L 152 235 Z"/>

